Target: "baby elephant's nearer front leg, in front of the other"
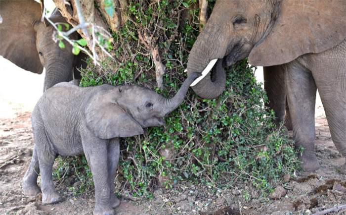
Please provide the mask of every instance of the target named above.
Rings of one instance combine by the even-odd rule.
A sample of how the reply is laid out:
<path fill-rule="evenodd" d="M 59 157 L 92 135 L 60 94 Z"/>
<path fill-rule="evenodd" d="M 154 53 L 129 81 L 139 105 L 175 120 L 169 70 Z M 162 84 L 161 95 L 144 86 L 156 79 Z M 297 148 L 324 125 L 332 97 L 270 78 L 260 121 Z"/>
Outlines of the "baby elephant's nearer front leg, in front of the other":
<path fill-rule="evenodd" d="M 114 210 L 110 206 L 107 140 L 100 139 L 90 132 L 82 137 L 82 143 L 95 185 L 93 214 L 114 215 Z"/>

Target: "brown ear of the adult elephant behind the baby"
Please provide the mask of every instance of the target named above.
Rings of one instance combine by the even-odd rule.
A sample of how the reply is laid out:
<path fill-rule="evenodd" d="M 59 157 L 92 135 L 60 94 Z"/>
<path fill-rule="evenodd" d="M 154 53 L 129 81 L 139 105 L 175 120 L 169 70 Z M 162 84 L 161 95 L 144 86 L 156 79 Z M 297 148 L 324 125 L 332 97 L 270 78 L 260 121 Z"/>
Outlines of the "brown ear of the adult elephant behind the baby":
<path fill-rule="evenodd" d="M 41 74 L 41 64 L 36 49 L 36 27 L 40 23 L 41 6 L 36 1 L 1 1 L 0 55 L 17 66 Z"/>

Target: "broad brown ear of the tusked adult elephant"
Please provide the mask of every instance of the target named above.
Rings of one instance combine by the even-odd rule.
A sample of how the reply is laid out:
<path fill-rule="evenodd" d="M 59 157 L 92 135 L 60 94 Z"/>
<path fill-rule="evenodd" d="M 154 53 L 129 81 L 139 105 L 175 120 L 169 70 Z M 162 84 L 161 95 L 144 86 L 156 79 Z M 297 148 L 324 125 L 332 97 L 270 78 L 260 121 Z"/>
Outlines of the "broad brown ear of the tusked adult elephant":
<path fill-rule="evenodd" d="M 278 65 L 331 49 L 346 38 L 345 14 L 346 0 L 282 0 L 272 29 L 253 48 L 249 62 Z"/>

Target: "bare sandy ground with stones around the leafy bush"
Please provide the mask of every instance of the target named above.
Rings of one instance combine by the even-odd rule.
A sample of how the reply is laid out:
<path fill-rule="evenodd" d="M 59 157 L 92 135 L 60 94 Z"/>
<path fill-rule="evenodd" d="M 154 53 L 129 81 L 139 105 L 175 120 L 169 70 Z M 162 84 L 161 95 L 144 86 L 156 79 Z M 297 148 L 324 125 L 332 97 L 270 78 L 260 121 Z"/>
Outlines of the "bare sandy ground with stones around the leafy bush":
<path fill-rule="evenodd" d="M 3 61 L 0 59 L 1 62 Z M 0 65 L 0 79 L 3 80 L 3 64 Z M 37 75 L 34 77 L 37 78 Z M 9 85 L 13 85 L 13 80 L 7 80 L 12 82 Z M 25 93 L 25 89 L 30 85 L 28 83 L 31 82 L 27 80 L 23 84 L 16 83 L 14 87 L 20 89 L 20 101 L 25 100 L 25 97 L 21 97 L 23 96 L 21 92 Z M 22 178 L 28 168 L 34 147 L 30 122 L 33 106 L 13 102 L 14 96 L 5 96 L 10 91 L 14 91 L 10 86 L 5 88 L 3 85 L 0 86 L 0 215 L 92 214 L 95 197 L 93 189 L 90 188 L 84 194 L 76 196 L 70 190 L 73 185 L 68 181 L 55 184 L 56 190 L 64 197 L 64 201 L 59 204 L 43 204 L 41 194 L 34 197 L 23 194 Z M 30 102 L 36 103 L 34 95 L 28 97 L 31 98 Z M 156 190 L 152 201 L 122 199 L 115 213 L 118 215 L 225 215 L 227 212 L 233 215 L 313 214 L 346 205 L 346 176 L 338 173 L 345 158 L 337 152 L 331 140 L 320 102 L 316 106 L 315 151 L 321 168 L 315 172 L 297 172 L 296 178 L 286 178 L 286 182 L 279 184 L 270 197 L 259 199 L 259 190 L 241 183 L 233 184 L 231 189 L 218 190 L 216 193 L 202 185 L 181 183 L 170 190 Z M 346 209 L 330 214 L 345 215 Z"/>

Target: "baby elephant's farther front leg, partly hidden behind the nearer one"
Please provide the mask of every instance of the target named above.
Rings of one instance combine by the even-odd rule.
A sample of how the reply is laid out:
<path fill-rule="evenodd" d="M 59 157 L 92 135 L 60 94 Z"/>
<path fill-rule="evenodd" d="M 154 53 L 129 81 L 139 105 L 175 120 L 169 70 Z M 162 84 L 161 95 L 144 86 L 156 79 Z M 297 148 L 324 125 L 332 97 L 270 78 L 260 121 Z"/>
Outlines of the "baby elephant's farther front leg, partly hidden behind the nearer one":
<path fill-rule="evenodd" d="M 108 181 L 110 188 L 110 205 L 112 208 L 116 208 L 120 204 L 120 200 L 114 195 L 114 180 L 117 173 L 120 149 L 119 149 L 119 137 L 109 140 L 108 143 Z"/>

